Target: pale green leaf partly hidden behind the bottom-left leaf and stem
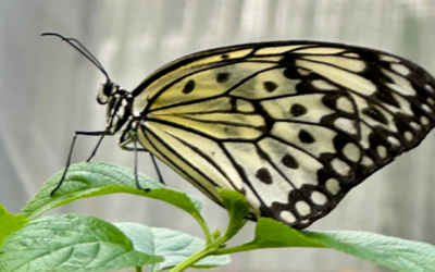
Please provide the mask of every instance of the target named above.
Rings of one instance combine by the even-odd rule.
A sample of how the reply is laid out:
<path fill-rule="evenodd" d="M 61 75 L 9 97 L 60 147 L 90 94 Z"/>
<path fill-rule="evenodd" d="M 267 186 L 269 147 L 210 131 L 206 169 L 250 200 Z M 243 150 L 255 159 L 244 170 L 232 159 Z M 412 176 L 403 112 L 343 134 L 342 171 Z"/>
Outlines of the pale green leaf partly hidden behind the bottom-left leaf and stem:
<path fill-rule="evenodd" d="M 173 268 L 206 246 L 206 242 L 200 238 L 167 228 L 149 227 L 136 223 L 116 223 L 114 225 L 130 238 L 136 250 L 164 257 L 164 261 L 161 263 L 148 264 L 150 271 Z M 195 263 L 192 268 L 213 268 L 229 262 L 229 256 L 209 256 Z"/>

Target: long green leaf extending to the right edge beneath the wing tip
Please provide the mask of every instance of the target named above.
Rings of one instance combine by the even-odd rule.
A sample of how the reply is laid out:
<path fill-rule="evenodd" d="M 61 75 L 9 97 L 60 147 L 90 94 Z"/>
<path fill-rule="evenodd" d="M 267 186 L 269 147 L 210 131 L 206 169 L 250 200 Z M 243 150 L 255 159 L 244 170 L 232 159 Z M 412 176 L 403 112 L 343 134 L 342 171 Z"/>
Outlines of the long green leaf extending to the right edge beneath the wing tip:
<path fill-rule="evenodd" d="M 268 218 L 258 220 L 251 243 L 217 254 L 273 247 L 328 247 L 395 271 L 435 272 L 435 246 L 430 244 L 364 232 L 299 232 Z"/>

